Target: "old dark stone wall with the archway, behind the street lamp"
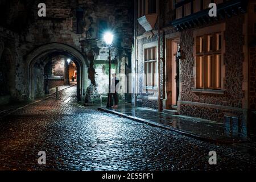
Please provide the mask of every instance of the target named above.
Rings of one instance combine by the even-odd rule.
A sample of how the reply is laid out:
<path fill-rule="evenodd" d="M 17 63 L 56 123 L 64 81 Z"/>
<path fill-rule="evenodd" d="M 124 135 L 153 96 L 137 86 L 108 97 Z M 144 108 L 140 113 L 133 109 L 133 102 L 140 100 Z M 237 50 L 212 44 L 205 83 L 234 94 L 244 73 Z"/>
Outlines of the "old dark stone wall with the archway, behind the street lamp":
<path fill-rule="evenodd" d="M 38 16 L 39 3 L 45 3 L 46 17 Z M 35 99 L 35 94 L 44 89 L 47 61 L 61 55 L 75 61 L 77 94 L 85 101 L 88 87 L 97 89 L 95 65 L 103 67 L 107 58 L 104 31 L 111 30 L 115 35 L 112 59 L 117 72 L 121 70 L 122 52 L 128 57 L 131 54 L 131 1 L 11 0 L 1 1 L 0 9 L 0 57 L 1 65 L 6 65 L 0 71 L 5 80 L 1 82 L 3 99 Z"/>

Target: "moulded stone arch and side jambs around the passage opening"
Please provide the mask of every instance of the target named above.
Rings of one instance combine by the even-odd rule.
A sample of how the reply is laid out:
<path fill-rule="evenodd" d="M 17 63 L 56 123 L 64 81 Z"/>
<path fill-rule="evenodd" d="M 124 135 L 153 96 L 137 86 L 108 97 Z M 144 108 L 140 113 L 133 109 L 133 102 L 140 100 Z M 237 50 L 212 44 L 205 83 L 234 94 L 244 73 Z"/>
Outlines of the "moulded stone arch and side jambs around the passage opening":
<path fill-rule="evenodd" d="M 84 102 L 88 81 L 88 61 L 77 49 L 62 43 L 49 43 L 32 51 L 26 58 L 29 84 L 29 97 L 34 100 L 38 94 L 38 86 L 44 84 L 42 70 L 47 64 L 47 57 L 63 55 L 74 61 L 77 67 L 77 98 Z M 42 89 L 40 92 L 43 92 Z"/>

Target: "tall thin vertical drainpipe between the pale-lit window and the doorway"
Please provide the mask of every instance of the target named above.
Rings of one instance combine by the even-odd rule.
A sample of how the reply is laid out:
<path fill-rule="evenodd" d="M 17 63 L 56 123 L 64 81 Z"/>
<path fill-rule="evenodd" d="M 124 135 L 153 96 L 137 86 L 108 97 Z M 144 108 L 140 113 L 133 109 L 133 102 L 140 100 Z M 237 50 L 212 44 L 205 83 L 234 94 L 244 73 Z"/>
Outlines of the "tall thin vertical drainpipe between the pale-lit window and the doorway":
<path fill-rule="evenodd" d="M 158 111 L 163 111 L 160 78 L 160 0 L 158 0 Z"/>

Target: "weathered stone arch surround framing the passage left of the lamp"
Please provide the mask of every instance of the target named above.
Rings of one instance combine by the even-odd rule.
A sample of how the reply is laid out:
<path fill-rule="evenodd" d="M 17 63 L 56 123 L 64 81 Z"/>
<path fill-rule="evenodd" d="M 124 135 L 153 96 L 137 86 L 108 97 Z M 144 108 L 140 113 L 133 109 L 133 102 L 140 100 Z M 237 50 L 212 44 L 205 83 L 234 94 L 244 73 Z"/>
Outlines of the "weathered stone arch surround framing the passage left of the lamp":
<path fill-rule="evenodd" d="M 63 43 L 49 43 L 44 44 L 43 46 L 40 46 L 36 49 L 34 49 L 31 53 L 28 54 L 26 57 L 26 63 L 27 63 L 27 71 L 28 71 L 28 91 L 29 91 L 29 98 L 31 100 L 35 99 L 35 78 L 33 77 L 33 74 L 35 72 L 35 66 L 39 66 L 38 60 L 44 61 L 43 57 L 54 53 L 59 52 L 63 55 L 69 55 L 72 56 L 73 59 L 76 60 L 77 67 L 79 70 L 79 77 L 80 81 L 77 83 L 79 85 L 80 95 L 81 95 L 81 101 L 84 102 L 84 96 L 86 92 L 86 88 L 88 85 L 88 67 L 89 63 L 88 60 L 80 51 L 78 51 L 76 48 L 73 48 L 72 46 L 69 46 L 67 44 Z"/>

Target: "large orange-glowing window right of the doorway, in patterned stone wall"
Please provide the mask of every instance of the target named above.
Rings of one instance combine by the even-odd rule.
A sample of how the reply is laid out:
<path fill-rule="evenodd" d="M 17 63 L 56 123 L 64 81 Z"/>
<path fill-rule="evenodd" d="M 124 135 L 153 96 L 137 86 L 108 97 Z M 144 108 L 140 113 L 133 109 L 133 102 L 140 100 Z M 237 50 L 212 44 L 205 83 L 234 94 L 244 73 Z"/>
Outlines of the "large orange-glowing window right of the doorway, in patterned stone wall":
<path fill-rule="evenodd" d="M 221 33 L 196 38 L 196 88 L 221 89 Z"/>

